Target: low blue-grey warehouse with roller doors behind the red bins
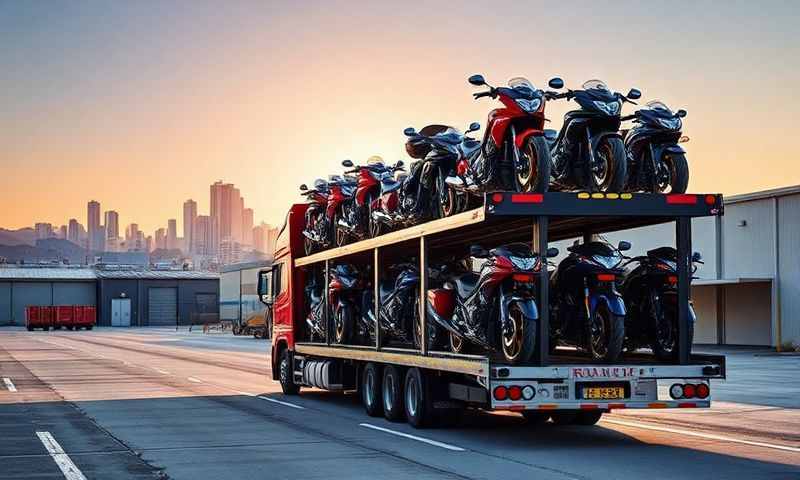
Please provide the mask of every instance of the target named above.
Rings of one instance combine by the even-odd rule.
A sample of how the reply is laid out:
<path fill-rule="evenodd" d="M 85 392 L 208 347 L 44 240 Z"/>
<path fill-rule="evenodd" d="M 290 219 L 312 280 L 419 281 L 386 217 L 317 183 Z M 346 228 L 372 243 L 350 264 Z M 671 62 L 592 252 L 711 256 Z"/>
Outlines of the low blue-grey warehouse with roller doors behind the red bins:
<path fill-rule="evenodd" d="M 94 305 L 100 326 L 217 321 L 219 275 L 143 269 L 0 268 L 0 325 L 24 325 L 28 305 Z"/>

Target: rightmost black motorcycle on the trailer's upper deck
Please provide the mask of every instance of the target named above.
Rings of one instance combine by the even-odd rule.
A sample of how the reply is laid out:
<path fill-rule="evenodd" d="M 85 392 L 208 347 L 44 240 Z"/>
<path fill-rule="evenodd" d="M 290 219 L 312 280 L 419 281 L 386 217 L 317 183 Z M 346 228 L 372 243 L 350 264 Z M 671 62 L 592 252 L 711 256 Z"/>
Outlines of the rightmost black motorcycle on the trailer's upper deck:
<path fill-rule="evenodd" d="M 689 184 L 689 165 L 686 150 L 678 144 L 689 140 L 681 136 L 681 118 L 686 116 L 686 110 L 673 112 L 657 100 L 645 106 L 621 118 L 636 124 L 622 132 L 628 151 L 625 190 L 684 193 Z"/>

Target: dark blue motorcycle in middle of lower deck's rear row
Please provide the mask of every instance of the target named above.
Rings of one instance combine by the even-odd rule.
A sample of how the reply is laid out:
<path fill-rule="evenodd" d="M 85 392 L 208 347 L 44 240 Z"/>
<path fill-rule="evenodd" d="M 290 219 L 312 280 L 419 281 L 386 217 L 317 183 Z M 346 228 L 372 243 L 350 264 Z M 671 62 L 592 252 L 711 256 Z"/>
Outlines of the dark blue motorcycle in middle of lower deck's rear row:
<path fill-rule="evenodd" d="M 551 348 L 575 346 L 596 361 L 619 358 L 626 310 L 616 281 L 623 274 L 622 252 L 630 248 L 624 241 L 617 248 L 597 241 L 567 248 L 570 254 L 550 277 Z"/>

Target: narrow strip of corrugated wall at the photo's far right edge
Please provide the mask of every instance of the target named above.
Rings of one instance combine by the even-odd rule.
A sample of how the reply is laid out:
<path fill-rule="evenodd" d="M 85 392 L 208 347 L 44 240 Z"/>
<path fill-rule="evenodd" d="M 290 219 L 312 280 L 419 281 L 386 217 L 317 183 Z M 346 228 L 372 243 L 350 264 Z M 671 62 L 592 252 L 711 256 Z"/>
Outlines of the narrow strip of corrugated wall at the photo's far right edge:
<path fill-rule="evenodd" d="M 800 195 L 778 202 L 781 340 L 800 344 Z"/>

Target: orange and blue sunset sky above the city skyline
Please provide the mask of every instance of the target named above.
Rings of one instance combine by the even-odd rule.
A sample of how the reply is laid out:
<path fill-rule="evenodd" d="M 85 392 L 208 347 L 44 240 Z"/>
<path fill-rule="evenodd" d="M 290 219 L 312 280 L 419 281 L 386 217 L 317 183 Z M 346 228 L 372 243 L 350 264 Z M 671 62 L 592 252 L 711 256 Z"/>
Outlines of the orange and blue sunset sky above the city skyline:
<path fill-rule="evenodd" d="M 152 233 L 219 179 L 279 223 L 341 160 L 405 158 L 405 127 L 484 125 L 474 73 L 685 108 L 690 190 L 800 183 L 800 2 L 500 5 L 0 0 L 0 226 L 94 199 Z"/>

